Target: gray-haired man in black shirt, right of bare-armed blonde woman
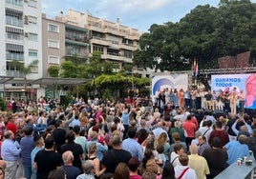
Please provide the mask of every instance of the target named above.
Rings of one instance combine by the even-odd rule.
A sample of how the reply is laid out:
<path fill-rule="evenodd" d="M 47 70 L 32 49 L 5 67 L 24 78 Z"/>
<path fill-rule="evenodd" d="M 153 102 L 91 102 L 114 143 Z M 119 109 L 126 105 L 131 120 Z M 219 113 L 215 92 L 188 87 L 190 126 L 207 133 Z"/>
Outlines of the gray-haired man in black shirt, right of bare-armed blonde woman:
<path fill-rule="evenodd" d="M 121 138 L 119 135 L 111 137 L 113 149 L 106 151 L 103 155 L 102 164 L 106 167 L 105 172 L 114 173 L 120 162 L 128 164 L 132 155 L 129 151 L 121 149 Z"/>

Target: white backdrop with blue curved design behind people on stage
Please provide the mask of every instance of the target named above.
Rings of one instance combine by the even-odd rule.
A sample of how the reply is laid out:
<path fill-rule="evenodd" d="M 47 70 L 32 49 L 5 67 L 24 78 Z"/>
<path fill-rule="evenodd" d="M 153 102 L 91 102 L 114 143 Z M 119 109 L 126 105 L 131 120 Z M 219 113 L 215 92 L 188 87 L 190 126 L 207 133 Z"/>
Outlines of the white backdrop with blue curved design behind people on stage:
<path fill-rule="evenodd" d="M 187 74 L 159 75 L 152 78 L 151 95 L 155 96 L 158 90 L 162 89 L 183 89 L 188 87 Z"/>

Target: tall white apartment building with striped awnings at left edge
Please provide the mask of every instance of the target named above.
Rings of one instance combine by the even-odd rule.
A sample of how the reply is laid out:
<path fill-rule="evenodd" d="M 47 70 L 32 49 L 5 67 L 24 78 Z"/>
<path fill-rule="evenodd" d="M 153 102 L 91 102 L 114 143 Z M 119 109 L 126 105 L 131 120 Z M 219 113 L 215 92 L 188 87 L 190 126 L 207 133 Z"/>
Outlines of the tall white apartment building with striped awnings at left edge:
<path fill-rule="evenodd" d="M 0 75 L 16 79 L 15 83 L 5 85 L 6 97 L 21 99 L 25 93 L 27 97 L 36 96 L 38 87 L 28 83 L 25 92 L 24 74 L 11 61 L 28 67 L 38 60 L 26 77 L 28 81 L 42 77 L 41 0 L 1 0 L 0 9 Z"/>

